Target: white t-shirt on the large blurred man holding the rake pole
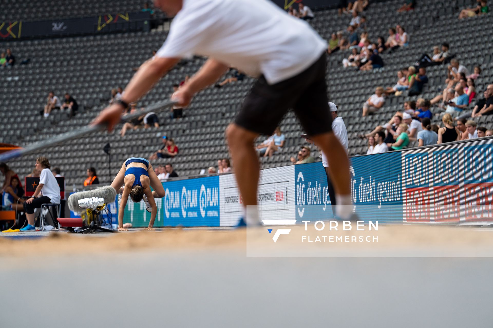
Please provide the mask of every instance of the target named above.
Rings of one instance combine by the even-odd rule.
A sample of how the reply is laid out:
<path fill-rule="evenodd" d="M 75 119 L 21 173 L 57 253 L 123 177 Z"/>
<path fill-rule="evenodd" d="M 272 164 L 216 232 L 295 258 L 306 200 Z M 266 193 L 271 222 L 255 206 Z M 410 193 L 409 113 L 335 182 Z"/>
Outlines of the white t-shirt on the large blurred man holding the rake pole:
<path fill-rule="evenodd" d="M 156 56 L 211 57 L 275 84 L 310 67 L 326 49 L 308 23 L 271 1 L 183 0 Z"/>

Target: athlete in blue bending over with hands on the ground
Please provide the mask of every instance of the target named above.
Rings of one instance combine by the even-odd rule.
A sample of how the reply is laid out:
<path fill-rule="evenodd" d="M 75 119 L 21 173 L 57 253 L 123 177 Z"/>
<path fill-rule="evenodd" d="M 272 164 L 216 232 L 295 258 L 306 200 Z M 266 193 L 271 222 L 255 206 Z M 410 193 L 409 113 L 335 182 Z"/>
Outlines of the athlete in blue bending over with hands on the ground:
<path fill-rule="evenodd" d="M 118 194 L 120 209 L 118 211 L 118 230 L 128 230 L 123 227 L 123 214 L 127 205 L 128 198 L 139 203 L 145 202 L 145 209 L 151 213 L 149 226 L 145 230 L 154 230 L 154 220 L 156 219 L 157 207 L 154 198 L 164 197 L 163 184 L 156 176 L 152 165 L 142 157 L 130 157 L 116 175 L 111 186 Z M 154 191 L 151 190 L 154 189 Z"/>

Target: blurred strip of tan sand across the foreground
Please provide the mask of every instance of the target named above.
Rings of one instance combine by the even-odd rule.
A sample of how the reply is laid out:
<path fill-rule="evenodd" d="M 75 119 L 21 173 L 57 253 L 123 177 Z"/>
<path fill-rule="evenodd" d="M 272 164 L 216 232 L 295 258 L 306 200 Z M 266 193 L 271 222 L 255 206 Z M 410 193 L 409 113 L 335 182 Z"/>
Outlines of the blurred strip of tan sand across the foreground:
<path fill-rule="evenodd" d="M 380 226 L 378 231 L 316 231 L 310 227 L 305 231 L 303 226 L 269 227 L 273 228 L 272 233 L 267 228 L 163 229 L 105 235 L 53 232 L 46 238 L 21 240 L 4 235 L 0 238 L 0 256 L 29 256 L 34 249 L 37 254 L 47 255 L 53 254 L 53 250 L 62 255 L 91 255 L 140 250 L 217 249 L 246 252 L 250 257 L 493 256 L 493 230 L 490 228 L 391 225 Z M 291 229 L 291 232 L 280 236 L 275 243 L 272 237 L 277 229 Z M 305 236 L 304 241 L 302 236 Z M 315 241 L 317 236 L 320 241 Z M 374 237 L 378 241 L 364 240 Z"/>

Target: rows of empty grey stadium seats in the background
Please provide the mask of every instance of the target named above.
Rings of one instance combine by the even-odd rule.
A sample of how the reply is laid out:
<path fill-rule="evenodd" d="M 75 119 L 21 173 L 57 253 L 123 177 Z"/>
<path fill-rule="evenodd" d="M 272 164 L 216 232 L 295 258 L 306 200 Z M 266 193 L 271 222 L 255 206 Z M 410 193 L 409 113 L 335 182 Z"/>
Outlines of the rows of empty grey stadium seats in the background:
<path fill-rule="evenodd" d="M 70 3 L 74 4 L 73 1 Z M 98 3 L 110 8 L 108 1 Z M 391 96 L 376 115 L 361 118 L 364 101 L 376 87 L 393 86 L 396 71 L 413 64 L 423 53 L 431 53 L 434 45 L 450 43 L 451 52 L 471 71 L 474 64 L 481 64 L 483 72 L 476 81 L 477 98 L 482 97 L 486 85 L 492 81 L 492 46 L 484 41 L 488 40 L 490 33 L 484 27 L 492 23 L 491 14 L 459 21 L 458 10 L 471 5 L 470 1 L 464 0 L 420 1 L 415 10 L 396 13 L 401 4 L 401 0 L 371 3 L 364 12 L 370 40 L 381 35 L 387 38 L 388 28 L 395 24 L 401 24 L 410 35 L 408 47 L 382 56 L 385 67 L 369 72 L 344 69 L 342 60 L 349 55 L 348 51 L 336 52 L 328 59 L 329 98 L 340 106 L 340 116 L 348 127 L 351 155 L 366 153 L 366 141 L 358 139 L 358 134 L 369 132 L 376 125 L 388 121 L 393 113 L 402 109 L 404 101 L 418 97 Z M 31 5 L 23 6 L 24 9 L 28 7 Z M 103 4 L 98 8 L 101 12 Z M 333 31 L 345 30 L 351 19 L 347 15 L 338 17 L 337 10 L 322 10 L 315 14 L 316 18 L 310 24 L 325 39 Z M 0 49 L 12 48 L 18 62 L 25 58 L 30 58 L 31 62 L 0 69 L 3 82 L 0 142 L 26 145 L 86 124 L 105 107 L 110 89 L 124 87 L 134 74 L 132 68 L 149 58 L 151 50 L 159 48 L 165 39 L 165 31 L 152 31 L 1 42 Z M 125 47 L 122 48 L 122 44 Z M 173 69 L 140 101 L 139 106 L 168 98 L 172 85 L 183 80 L 185 75 L 192 75 L 204 61 L 197 57 Z M 446 66 L 428 67 L 427 72 L 429 83 L 420 97 L 430 99 L 438 93 L 438 88 L 443 88 Z M 253 79 L 246 78 L 221 89 L 206 89 L 184 110 L 184 118 L 170 119 L 168 113 L 159 113 L 159 128 L 128 131 L 123 138 L 117 133 L 97 133 L 70 144 L 45 149 L 42 154 L 53 166 L 61 168 L 68 185 L 82 183 L 85 169 L 89 166 L 96 167 L 100 181 L 108 183 L 123 160 L 131 156 L 148 157 L 161 146 L 161 136 L 167 135 L 175 139 L 179 154 L 176 158 L 159 159 L 152 164 L 171 162 L 180 176 L 199 174 L 201 169 L 215 166 L 218 158 L 229 157 L 224 129 L 234 118 L 252 83 Z M 55 112 L 49 119 L 43 119 L 39 111 L 49 90 L 54 90 L 59 97 L 66 91 L 70 92 L 83 106 L 81 113 L 68 119 L 65 114 Z M 491 127 L 492 119 L 485 117 L 478 121 L 480 125 Z M 437 118 L 434 118 L 434 123 L 440 125 Z M 264 168 L 289 164 L 289 157 L 304 143 L 299 137 L 303 133 L 302 128 L 292 112 L 283 119 L 281 127 L 286 136 L 286 146 L 272 158 L 262 158 Z M 106 143 L 111 145 L 111 169 L 103 152 Z M 39 154 L 14 160 L 10 165 L 23 177 L 33 169 L 36 155 Z"/>

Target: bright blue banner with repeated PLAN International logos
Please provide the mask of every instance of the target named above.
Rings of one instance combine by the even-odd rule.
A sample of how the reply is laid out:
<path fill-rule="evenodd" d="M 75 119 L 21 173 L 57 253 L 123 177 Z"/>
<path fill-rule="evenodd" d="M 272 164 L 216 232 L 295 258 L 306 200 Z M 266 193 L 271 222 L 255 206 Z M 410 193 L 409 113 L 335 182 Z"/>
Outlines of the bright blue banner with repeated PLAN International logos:
<path fill-rule="evenodd" d="M 164 226 L 219 226 L 219 176 L 168 181 L 163 185 Z"/>

